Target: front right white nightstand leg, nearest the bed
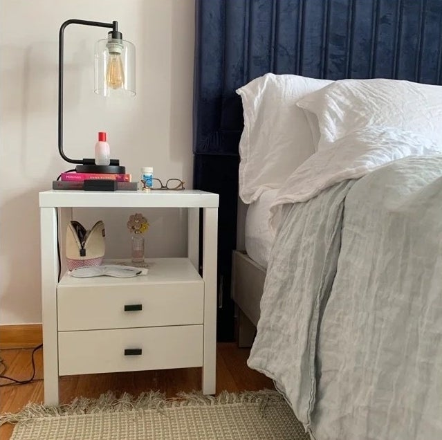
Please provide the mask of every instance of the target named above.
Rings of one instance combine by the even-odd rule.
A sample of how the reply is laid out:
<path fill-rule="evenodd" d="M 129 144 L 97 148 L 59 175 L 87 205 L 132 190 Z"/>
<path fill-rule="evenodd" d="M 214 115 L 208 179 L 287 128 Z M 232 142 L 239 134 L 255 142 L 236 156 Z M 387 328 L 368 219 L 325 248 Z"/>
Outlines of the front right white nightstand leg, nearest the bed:
<path fill-rule="evenodd" d="M 218 208 L 204 208 L 204 354 L 203 394 L 215 394 L 217 373 L 217 235 Z"/>

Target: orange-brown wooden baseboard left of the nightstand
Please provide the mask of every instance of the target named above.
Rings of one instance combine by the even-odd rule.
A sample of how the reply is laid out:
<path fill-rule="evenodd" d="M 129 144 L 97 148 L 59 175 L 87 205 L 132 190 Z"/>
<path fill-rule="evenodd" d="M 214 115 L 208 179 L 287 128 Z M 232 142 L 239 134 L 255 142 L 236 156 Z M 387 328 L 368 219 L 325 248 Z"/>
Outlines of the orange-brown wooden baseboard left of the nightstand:
<path fill-rule="evenodd" d="M 0 349 L 37 347 L 42 343 L 42 324 L 0 325 Z"/>

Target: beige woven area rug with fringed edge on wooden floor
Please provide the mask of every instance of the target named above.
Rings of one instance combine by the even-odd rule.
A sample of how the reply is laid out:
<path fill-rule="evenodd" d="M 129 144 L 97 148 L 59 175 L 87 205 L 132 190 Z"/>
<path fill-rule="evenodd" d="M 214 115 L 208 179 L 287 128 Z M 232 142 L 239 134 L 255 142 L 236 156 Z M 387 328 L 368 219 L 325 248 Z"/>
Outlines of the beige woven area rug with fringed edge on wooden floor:
<path fill-rule="evenodd" d="M 69 405 L 28 404 L 18 414 L 1 414 L 0 424 L 17 423 L 11 440 L 308 440 L 284 398 L 273 390 L 217 397 L 159 392 L 138 398 L 110 392 Z"/>

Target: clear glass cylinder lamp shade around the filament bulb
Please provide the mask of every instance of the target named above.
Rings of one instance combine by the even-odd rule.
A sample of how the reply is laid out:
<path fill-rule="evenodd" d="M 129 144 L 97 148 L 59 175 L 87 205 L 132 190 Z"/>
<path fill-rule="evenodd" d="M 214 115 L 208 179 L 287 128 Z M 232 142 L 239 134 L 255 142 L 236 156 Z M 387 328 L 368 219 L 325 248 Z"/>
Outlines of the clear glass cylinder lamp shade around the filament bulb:
<path fill-rule="evenodd" d="M 95 93 L 135 95 L 135 46 L 124 39 L 95 43 Z"/>

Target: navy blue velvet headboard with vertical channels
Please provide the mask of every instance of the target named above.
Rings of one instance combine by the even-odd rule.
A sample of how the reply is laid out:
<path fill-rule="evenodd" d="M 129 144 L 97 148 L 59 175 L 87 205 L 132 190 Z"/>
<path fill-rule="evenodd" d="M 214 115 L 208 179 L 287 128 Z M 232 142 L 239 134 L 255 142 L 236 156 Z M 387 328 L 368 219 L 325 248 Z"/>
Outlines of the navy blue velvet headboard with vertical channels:
<path fill-rule="evenodd" d="M 233 336 L 235 89 L 267 72 L 442 83 L 441 0 L 196 0 L 194 187 L 220 194 L 219 340 Z"/>

